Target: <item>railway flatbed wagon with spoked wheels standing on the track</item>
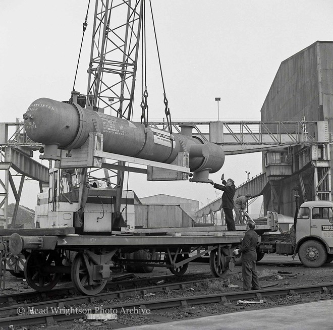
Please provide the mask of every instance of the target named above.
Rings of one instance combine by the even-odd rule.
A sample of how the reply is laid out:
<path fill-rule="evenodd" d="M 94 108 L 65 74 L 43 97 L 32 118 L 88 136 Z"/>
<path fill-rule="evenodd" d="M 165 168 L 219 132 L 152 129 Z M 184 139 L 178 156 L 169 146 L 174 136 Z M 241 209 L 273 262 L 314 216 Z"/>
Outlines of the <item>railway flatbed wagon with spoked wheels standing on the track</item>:
<path fill-rule="evenodd" d="M 24 276 L 36 291 L 49 291 L 62 274 L 71 274 L 75 288 L 95 295 L 113 274 L 126 267 L 166 267 L 182 276 L 190 262 L 207 262 L 215 277 L 233 270 L 235 249 L 245 232 L 193 232 L 192 235 L 77 235 L 71 228 L 0 231 L 2 280 L 6 264 L 25 263 Z M 145 251 L 148 258 L 130 259 L 128 254 Z M 147 260 L 149 259 L 149 260 Z"/>

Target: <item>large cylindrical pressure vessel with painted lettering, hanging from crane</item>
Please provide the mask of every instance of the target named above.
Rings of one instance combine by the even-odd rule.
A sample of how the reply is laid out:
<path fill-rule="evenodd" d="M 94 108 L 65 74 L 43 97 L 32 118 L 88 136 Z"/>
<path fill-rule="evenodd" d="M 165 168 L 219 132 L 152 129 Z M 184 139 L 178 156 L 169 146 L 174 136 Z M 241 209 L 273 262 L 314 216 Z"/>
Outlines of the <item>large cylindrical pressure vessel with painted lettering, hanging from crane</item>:
<path fill-rule="evenodd" d="M 29 138 L 45 145 L 71 150 L 81 147 L 90 132 L 103 134 L 103 151 L 142 159 L 171 163 L 178 152 L 189 152 L 191 172 L 209 169 L 217 172 L 224 163 L 224 152 L 216 144 L 204 143 L 183 134 L 148 127 L 126 119 L 84 109 L 77 103 L 39 98 L 26 114 Z"/>

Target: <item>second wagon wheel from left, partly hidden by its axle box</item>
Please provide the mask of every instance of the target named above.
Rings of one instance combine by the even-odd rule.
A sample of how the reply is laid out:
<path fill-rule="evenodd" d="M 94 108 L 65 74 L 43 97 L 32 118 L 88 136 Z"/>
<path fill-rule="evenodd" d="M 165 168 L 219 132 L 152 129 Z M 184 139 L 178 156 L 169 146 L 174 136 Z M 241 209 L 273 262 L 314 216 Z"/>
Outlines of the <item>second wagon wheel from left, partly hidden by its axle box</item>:
<path fill-rule="evenodd" d="M 88 267 L 93 267 L 93 262 L 87 258 Z M 71 268 L 71 277 L 72 282 L 81 294 L 93 296 L 100 293 L 105 285 L 107 280 L 94 280 L 92 283 L 89 281 L 89 272 L 87 265 L 84 260 L 83 253 L 78 253 L 72 263 Z"/>

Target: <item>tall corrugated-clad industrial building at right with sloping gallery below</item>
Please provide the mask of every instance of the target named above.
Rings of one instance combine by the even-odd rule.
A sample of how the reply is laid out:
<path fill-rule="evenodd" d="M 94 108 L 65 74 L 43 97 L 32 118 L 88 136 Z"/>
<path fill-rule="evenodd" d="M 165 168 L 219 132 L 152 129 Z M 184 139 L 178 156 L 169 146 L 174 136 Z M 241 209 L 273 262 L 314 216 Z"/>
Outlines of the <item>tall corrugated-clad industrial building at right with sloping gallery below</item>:
<path fill-rule="evenodd" d="M 300 202 L 331 200 L 332 109 L 333 42 L 316 41 L 281 63 L 261 108 L 261 121 L 269 123 L 266 131 L 280 135 L 283 129 L 295 132 L 301 127 L 303 144 L 263 152 L 262 173 L 237 187 L 236 196 L 263 195 L 264 214 L 272 210 L 290 216 L 296 194 Z M 317 122 L 318 128 L 309 122 Z M 220 201 L 204 206 L 197 215 L 211 214 L 214 219 L 215 204 Z"/>

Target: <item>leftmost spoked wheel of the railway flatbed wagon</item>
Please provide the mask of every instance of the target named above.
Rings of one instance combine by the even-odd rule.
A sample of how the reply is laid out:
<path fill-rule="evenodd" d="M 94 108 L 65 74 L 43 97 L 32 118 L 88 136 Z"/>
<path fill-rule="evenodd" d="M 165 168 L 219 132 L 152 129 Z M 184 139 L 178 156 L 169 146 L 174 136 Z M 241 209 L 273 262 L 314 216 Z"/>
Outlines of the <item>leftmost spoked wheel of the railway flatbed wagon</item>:
<path fill-rule="evenodd" d="M 59 282 L 61 273 L 52 272 L 48 267 L 61 265 L 62 258 L 56 251 L 33 251 L 25 262 L 24 277 L 32 289 L 49 291 Z"/>

